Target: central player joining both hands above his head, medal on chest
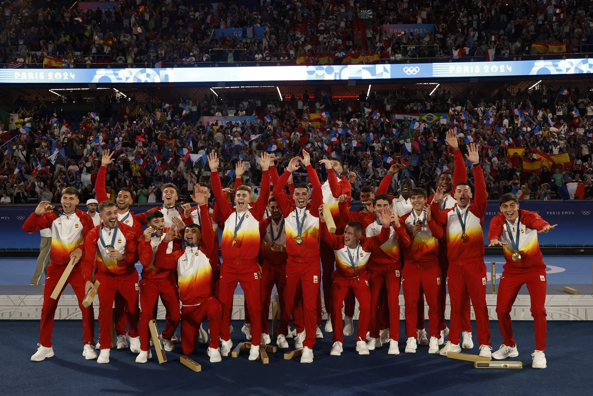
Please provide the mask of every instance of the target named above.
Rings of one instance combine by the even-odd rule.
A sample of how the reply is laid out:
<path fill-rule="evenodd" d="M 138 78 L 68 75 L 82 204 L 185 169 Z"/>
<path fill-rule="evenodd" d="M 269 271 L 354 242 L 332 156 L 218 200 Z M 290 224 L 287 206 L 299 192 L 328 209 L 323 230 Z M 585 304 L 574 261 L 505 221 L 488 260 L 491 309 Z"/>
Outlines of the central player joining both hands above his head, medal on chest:
<path fill-rule="evenodd" d="M 317 210 L 308 208 L 311 192 L 309 186 L 297 184 L 294 187 L 292 200 L 288 198 L 284 188 L 292 172 L 298 169 L 298 161 L 307 169 L 307 174 L 313 186 L 313 202 L 311 207 L 323 203 L 321 183 L 317 172 L 311 165 L 311 157 L 306 150 L 302 151 L 302 160 L 294 157 L 286 167 L 278 183 L 274 186 L 273 195 L 278 202 L 286 233 L 286 289 L 285 306 L 282 310 L 283 321 L 288 323 L 291 313 L 297 327 L 295 348 L 304 348 L 301 363 L 313 362 L 313 346 L 317 330 L 317 294 L 319 293 L 320 273 L 320 245 L 319 218 Z M 302 302 L 301 302 L 302 300 Z M 299 306 L 302 303 L 303 320 L 299 320 Z M 302 323 L 304 322 L 304 328 Z M 301 328 L 299 328 L 301 327 Z M 278 334 L 284 337 L 288 334 L 287 327 L 280 327 Z"/>

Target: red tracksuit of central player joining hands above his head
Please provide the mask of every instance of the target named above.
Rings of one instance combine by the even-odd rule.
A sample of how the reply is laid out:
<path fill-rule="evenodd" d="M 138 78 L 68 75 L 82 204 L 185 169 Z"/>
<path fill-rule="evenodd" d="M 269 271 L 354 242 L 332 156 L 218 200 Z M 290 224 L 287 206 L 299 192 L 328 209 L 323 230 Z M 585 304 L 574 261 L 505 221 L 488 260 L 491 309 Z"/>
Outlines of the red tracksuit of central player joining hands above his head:
<path fill-rule="evenodd" d="M 285 306 L 282 311 L 282 320 L 288 323 L 292 313 L 297 331 L 302 332 L 305 330 L 306 337 L 303 346 L 313 349 L 317 330 L 317 297 L 321 277 L 318 208 L 323 203 L 323 197 L 321 195 L 321 183 L 313 166 L 307 166 L 307 173 L 313 186 L 313 197 L 311 198 L 311 205 L 308 205 L 308 207 L 296 208 L 294 200 L 289 199 L 286 192 L 284 192 L 284 186 L 290 176 L 289 172 L 284 172 L 280 176 L 278 183 L 274 186 L 273 194 L 284 217 L 286 254 L 288 254 L 286 261 Z M 298 236 L 297 216 L 299 221 L 303 222 L 301 237 L 304 242 L 302 245 L 297 245 L 295 242 Z M 327 298 L 327 294 L 325 296 Z M 303 306 L 302 317 L 299 309 L 297 309 L 301 305 L 301 300 Z M 302 328 L 303 322 L 305 324 L 304 329 Z M 280 327 L 278 332 L 286 335 L 288 329 L 286 326 Z"/>

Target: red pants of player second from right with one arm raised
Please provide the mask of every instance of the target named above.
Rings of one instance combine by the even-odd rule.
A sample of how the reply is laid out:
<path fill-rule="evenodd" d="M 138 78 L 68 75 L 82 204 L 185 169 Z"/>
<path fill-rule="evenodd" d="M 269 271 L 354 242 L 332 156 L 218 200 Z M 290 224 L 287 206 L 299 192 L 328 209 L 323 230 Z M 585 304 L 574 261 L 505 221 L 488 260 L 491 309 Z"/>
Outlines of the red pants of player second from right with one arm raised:
<path fill-rule="evenodd" d="M 466 315 L 464 302 L 470 294 L 476 315 L 479 345 L 490 344 L 490 321 L 486 308 L 486 265 L 484 259 L 473 259 L 463 264 L 450 265 L 448 270 L 449 299 L 451 299 L 451 321 L 449 341 L 459 344 L 463 317 Z"/>

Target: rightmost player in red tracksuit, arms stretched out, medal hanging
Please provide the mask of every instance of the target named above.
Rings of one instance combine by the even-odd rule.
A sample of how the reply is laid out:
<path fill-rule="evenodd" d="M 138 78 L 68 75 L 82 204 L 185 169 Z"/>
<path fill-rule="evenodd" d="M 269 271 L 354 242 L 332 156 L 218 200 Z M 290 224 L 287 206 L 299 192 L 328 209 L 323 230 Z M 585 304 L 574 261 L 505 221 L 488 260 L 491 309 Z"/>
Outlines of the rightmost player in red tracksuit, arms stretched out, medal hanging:
<path fill-rule="evenodd" d="M 488 246 L 502 246 L 505 266 L 496 294 L 496 314 L 502 334 L 500 349 L 492 354 L 494 359 L 519 356 L 513 337 L 511 309 L 519 289 L 527 284 L 531 298 L 531 316 L 535 329 L 534 369 L 546 368 L 546 263 L 537 240 L 539 233 L 547 233 L 558 224 L 550 226 L 537 213 L 519 209 L 515 194 L 503 194 L 499 199 L 500 213 L 490 221 Z"/>

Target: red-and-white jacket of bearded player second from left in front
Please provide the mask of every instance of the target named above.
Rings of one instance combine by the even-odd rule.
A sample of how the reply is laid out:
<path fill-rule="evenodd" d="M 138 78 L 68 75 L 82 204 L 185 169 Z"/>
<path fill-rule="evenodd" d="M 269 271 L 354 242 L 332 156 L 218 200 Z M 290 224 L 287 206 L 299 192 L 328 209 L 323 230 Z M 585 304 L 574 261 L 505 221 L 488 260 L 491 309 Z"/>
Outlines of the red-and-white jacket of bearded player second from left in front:
<path fill-rule="evenodd" d="M 113 246 L 121 254 L 126 255 L 126 259 L 117 261 L 109 258 L 107 252 L 100 241 L 99 233 L 103 233 L 103 240 L 107 246 L 111 245 L 114 230 L 103 227 L 103 223 L 92 229 L 84 239 L 84 256 L 82 256 L 82 277 L 85 281 L 93 279 L 93 269 L 96 263 L 96 273 L 110 276 L 119 276 L 124 279 L 138 279 L 138 273 L 134 265 L 138 261 L 138 239 L 136 232 L 132 227 L 126 226 L 121 221 L 117 222 L 119 226 Z M 96 254 L 96 258 L 95 258 Z"/>

